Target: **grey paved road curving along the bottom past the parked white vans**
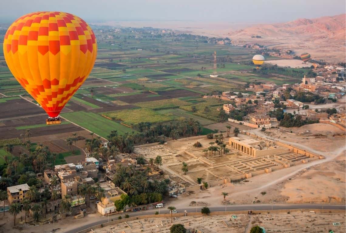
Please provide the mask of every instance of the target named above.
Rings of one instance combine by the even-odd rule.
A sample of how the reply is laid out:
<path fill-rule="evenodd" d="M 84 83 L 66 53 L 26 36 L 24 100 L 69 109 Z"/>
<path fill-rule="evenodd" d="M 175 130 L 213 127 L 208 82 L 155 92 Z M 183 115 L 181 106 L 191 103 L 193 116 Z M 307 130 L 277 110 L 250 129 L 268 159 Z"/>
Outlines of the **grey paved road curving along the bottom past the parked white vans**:
<path fill-rule="evenodd" d="M 197 207 L 186 207 L 177 209 L 178 213 L 182 213 L 186 210 L 186 212 L 200 212 L 201 206 Z M 345 209 L 345 205 L 320 205 L 320 204 L 252 204 L 252 205 L 230 205 L 230 206 L 209 206 L 210 211 L 244 211 L 244 210 L 271 210 L 271 209 Z M 169 210 L 166 208 L 160 208 L 160 209 L 149 209 L 147 211 L 138 211 L 138 212 L 130 212 L 127 213 L 130 216 L 139 216 L 139 215 L 146 215 L 146 214 L 154 214 L 156 211 L 160 211 L 160 214 L 168 214 Z M 74 229 L 69 229 L 67 231 L 63 231 L 64 233 L 75 233 L 81 230 L 84 230 L 86 228 L 99 225 L 102 223 L 106 223 L 108 221 L 111 221 L 111 219 L 115 220 L 118 218 L 118 216 L 124 217 L 124 213 L 122 214 L 115 214 L 108 217 L 103 217 L 98 221 L 85 224 L 82 227 L 76 227 Z M 57 230 L 57 232 L 62 232 L 62 230 Z"/>

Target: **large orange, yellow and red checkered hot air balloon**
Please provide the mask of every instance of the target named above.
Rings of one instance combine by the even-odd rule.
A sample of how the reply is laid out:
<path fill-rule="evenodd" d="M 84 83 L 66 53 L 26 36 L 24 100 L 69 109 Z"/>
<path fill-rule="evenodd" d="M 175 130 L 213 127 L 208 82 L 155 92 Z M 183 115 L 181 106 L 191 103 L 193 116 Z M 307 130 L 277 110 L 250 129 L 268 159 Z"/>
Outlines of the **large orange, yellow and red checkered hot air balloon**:
<path fill-rule="evenodd" d="M 13 22 L 3 53 L 16 80 L 54 119 L 90 74 L 97 43 L 83 19 L 43 11 Z"/>

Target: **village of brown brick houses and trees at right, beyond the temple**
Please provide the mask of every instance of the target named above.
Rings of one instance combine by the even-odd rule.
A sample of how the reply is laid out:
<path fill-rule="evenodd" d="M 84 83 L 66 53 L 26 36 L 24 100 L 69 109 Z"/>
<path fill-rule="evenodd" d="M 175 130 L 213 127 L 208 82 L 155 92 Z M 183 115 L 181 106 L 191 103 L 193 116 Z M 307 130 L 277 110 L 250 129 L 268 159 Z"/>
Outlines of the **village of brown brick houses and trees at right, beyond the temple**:
<path fill-rule="evenodd" d="M 229 121 L 244 124 L 249 127 L 271 127 L 277 116 L 273 113 L 277 109 L 295 110 L 299 114 L 300 110 L 306 109 L 299 114 L 302 120 L 327 120 L 345 127 L 345 108 L 338 109 L 337 112 L 326 112 L 326 109 L 316 109 L 318 104 L 336 102 L 345 95 L 345 68 L 324 66 L 317 69 L 316 77 L 304 77 L 301 83 L 283 84 L 274 83 L 249 83 L 247 92 L 254 92 L 251 95 L 240 92 L 222 92 L 222 95 L 204 96 L 204 98 L 215 97 L 221 100 L 232 101 L 231 104 L 224 104 L 223 110 L 230 114 Z M 294 99 L 294 96 L 297 99 Z M 309 109 L 308 104 L 316 104 L 315 109 Z M 235 111 L 244 110 L 244 105 L 251 106 L 253 113 L 239 117 L 234 115 Z"/>

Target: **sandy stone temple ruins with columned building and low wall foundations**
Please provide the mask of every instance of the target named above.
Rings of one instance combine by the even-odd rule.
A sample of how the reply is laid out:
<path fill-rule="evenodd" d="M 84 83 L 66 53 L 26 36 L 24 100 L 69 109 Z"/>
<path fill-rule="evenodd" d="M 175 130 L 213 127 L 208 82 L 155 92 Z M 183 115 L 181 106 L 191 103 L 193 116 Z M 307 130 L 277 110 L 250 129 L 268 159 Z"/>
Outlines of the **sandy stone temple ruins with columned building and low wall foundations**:
<path fill-rule="evenodd" d="M 197 139 L 202 142 L 202 147 L 192 146 Z M 240 132 L 237 137 L 225 138 L 230 151 L 227 154 L 203 151 L 210 146 L 210 141 L 205 136 L 185 138 L 177 140 L 181 148 L 169 142 L 167 145 L 137 146 L 135 152 L 147 160 L 162 156 L 161 168 L 165 175 L 183 184 L 185 191 L 200 188 L 197 178 L 202 178 L 209 186 L 215 186 L 324 158 L 247 131 Z M 186 175 L 181 170 L 182 162 L 188 164 Z"/>

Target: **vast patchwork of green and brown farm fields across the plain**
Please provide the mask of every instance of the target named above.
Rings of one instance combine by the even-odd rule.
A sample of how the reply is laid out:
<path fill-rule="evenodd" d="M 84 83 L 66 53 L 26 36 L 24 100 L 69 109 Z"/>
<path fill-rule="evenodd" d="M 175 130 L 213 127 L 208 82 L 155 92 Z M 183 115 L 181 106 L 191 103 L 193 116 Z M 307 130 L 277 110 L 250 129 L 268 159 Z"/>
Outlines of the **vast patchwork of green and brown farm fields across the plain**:
<path fill-rule="evenodd" d="M 193 35 L 162 34 L 162 30 L 145 28 L 93 29 L 98 39 L 95 65 L 61 115 L 102 137 L 107 137 L 111 130 L 134 131 L 118 121 L 131 125 L 182 117 L 198 120 L 204 134 L 211 131 L 209 124 L 218 122 L 222 104 L 230 102 L 203 99 L 203 95 L 213 91 L 246 92 L 247 82 L 297 83 L 306 72 L 287 68 L 271 73 L 268 69 L 267 75 L 260 75 L 253 72 L 255 66 L 247 65 L 254 49 L 204 43 Z M 217 78 L 209 76 L 213 72 L 214 51 Z M 1 43 L 0 61 L 0 140 L 17 138 L 27 129 L 41 136 L 82 130 L 68 121 L 46 127 L 44 110 L 35 101 L 30 103 L 18 96 L 28 97 L 6 66 Z M 2 97 L 5 95 L 8 97 Z M 192 112 L 192 106 L 196 112 Z"/>

